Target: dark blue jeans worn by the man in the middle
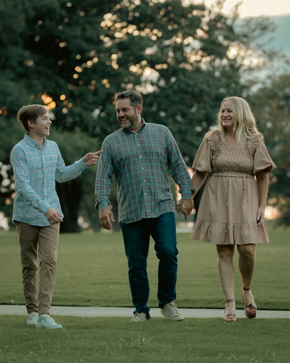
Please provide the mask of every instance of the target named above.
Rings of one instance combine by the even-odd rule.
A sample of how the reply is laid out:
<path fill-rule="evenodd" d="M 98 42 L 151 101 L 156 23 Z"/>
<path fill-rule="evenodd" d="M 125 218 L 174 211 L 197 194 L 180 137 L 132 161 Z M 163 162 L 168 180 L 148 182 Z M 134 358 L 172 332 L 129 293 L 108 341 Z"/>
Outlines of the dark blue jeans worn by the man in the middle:
<path fill-rule="evenodd" d="M 176 299 L 177 242 L 175 213 L 164 213 L 157 218 L 143 218 L 133 223 L 120 223 L 125 252 L 128 258 L 129 283 L 135 312 L 145 313 L 150 319 L 149 281 L 147 257 L 150 235 L 159 259 L 158 292 L 159 307 Z"/>

